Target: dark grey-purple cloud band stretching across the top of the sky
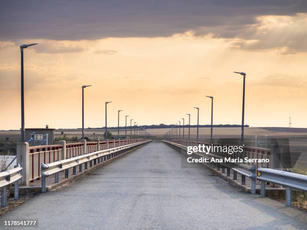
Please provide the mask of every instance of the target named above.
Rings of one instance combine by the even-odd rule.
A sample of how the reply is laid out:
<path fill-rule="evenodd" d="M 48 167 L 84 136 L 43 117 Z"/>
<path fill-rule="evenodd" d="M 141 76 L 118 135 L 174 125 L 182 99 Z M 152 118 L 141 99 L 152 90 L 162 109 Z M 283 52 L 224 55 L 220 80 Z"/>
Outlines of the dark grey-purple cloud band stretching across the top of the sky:
<path fill-rule="evenodd" d="M 0 8 L 0 39 L 94 40 L 106 37 L 160 37 L 195 31 L 216 38 L 255 39 L 243 49 L 287 47 L 285 53 L 307 50 L 300 44 L 305 31 L 279 44 L 259 35 L 257 16 L 307 13 L 304 0 L 169 0 L 169 1 L 24 1 L 11 0 Z M 274 40 L 272 39 L 274 42 Z M 40 48 L 37 48 L 40 49 Z M 54 49 L 53 49 L 54 50 Z M 66 48 L 67 52 L 78 48 Z M 56 50 L 54 50 L 56 52 Z M 47 50 L 52 53 L 52 51 Z"/>

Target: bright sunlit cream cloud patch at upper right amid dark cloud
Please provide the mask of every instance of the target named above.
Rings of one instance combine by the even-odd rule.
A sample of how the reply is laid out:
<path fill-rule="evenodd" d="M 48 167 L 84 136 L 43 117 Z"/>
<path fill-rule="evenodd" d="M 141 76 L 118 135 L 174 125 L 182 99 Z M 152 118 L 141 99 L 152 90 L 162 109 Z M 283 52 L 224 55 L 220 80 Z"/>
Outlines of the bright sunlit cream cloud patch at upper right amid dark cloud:
<path fill-rule="evenodd" d="M 240 49 L 274 49 L 280 54 L 307 52 L 307 14 L 262 16 L 257 24 L 246 28 L 233 45 Z"/>

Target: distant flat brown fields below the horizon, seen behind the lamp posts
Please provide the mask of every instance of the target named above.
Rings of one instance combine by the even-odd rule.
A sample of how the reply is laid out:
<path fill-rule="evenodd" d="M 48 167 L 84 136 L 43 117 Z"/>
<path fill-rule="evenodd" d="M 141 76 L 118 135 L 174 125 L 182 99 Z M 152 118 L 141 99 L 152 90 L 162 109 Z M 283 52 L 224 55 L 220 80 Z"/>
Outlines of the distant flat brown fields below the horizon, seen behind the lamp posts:
<path fill-rule="evenodd" d="M 170 129 L 147 129 L 146 131 L 155 136 L 158 139 L 163 138 L 163 135 L 167 133 Z M 114 137 L 117 135 L 117 130 L 108 129 Z M 68 137 L 77 136 L 78 139 L 81 138 L 81 129 L 70 129 L 70 130 L 56 130 L 55 136 L 61 137 L 64 134 Z M 192 139 L 196 138 L 196 128 L 190 129 L 190 136 Z M 104 130 L 102 129 L 86 129 L 85 136 L 90 139 L 103 139 Z M 183 128 L 181 128 L 181 135 L 183 133 Z M 132 129 L 132 135 L 134 134 L 134 130 Z M 179 130 L 178 130 L 179 134 Z M 255 136 L 258 137 L 258 140 L 262 147 L 264 147 L 264 136 L 268 135 L 270 138 L 288 138 L 290 150 L 292 152 L 302 152 L 296 166 L 304 167 L 307 166 L 307 128 L 280 128 L 280 127 L 248 127 L 244 128 L 244 134 L 246 139 L 249 138 L 251 145 L 254 146 Z M 119 135 L 124 136 L 125 131 L 120 130 Z M 130 135 L 130 129 L 127 129 L 127 135 Z M 241 128 L 213 128 L 213 136 L 214 138 L 240 138 Z M 6 137 L 9 137 L 10 140 L 18 140 L 20 138 L 20 131 L 0 131 L 0 140 L 5 140 Z M 188 137 L 188 128 L 185 128 L 185 137 Z M 210 128 L 199 128 L 199 139 L 200 140 L 208 140 L 210 138 Z"/>

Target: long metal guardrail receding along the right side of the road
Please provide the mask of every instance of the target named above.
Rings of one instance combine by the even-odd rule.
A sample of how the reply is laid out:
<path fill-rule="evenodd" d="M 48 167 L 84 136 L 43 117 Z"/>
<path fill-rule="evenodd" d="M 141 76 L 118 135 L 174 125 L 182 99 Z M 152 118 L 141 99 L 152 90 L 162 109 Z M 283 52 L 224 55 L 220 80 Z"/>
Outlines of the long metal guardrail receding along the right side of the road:
<path fill-rule="evenodd" d="M 171 141 L 164 140 L 165 143 L 172 145 L 173 147 L 177 148 L 178 150 L 185 152 L 187 154 L 187 146 L 177 144 Z M 202 154 L 199 152 L 194 152 L 193 154 L 206 157 L 206 158 L 222 158 L 220 155 L 216 155 L 214 153 Z M 215 163 L 215 166 L 218 171 L 222 168 L 222 173 L 225 173 L 225 169 L 227 169 L 227 176 L 230 176 L 230 170 L 233 170 L 233 180 L 237 179 L 237 173 L 241 174 L 241 184 L 245 184 L 245 179 L 248 177 L 251 179 L 251 193 L 256 194 L 256 166 L 255 165 L 248 165 L 243 163 L 231 164 L 231 163 Z"/>

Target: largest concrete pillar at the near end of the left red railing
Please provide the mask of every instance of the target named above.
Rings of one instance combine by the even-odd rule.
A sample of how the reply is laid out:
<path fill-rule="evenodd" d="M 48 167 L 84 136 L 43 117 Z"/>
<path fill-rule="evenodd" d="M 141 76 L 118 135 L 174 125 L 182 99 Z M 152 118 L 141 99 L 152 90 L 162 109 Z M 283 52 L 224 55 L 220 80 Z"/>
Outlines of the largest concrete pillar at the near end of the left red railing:
<path fill-rule="evenodd" d="M 17 163 L 20 164 L 20 166 L 23 168 L 21 171 L 23 176 L 21 184 L 27 186 L 30 180 L 30 156 L 28 142 L 17 143 Z"/>

